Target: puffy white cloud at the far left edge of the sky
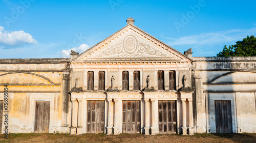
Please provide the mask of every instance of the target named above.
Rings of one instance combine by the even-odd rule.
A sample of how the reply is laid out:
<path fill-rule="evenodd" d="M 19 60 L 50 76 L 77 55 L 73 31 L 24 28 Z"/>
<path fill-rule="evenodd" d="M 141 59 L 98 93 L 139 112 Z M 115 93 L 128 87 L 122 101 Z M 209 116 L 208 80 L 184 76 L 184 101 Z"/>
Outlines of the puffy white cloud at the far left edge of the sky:
<path fill-rule="evenodd" d="M 37 41 L 24 31 L 7 32 L 4 27 L 0 26 L 0 46 L 15 47 L 23 46 L 24 44 L 37 44 Z"/>

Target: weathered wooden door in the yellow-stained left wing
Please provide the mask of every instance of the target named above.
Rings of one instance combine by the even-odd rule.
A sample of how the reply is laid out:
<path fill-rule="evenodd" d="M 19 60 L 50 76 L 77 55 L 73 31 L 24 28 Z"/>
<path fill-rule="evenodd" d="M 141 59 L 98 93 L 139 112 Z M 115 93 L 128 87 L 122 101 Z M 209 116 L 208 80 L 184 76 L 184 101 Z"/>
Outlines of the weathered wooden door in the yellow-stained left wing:
<path fill-rule="evenodd" d="M 49 133 L 50 101 L 35 101 L 35 133 Z"/>

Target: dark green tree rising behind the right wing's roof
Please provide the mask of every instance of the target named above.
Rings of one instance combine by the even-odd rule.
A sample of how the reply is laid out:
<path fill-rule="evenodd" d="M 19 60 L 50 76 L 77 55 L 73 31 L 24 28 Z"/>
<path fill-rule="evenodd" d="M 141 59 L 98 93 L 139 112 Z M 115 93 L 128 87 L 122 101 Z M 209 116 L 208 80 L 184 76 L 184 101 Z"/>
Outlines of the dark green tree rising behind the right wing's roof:
<path fill-rule="evenodd" d="M 243 41 L 236 42 L 237 44 L 227 47 L 217 53 L 217 56 L 256 56 L 256 38 L 247 36 Z"/>

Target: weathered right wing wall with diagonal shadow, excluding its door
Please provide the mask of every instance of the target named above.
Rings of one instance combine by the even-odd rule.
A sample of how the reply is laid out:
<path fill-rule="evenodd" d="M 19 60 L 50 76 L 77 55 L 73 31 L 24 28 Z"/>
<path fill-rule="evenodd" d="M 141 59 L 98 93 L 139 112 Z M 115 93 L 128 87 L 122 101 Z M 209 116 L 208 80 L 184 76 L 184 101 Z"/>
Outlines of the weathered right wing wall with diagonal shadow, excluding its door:
<path fill-rule="evenodd" d="M 255 57 L 195 57 L 197 132 L 216 132 L 215 100 L 230 100 L 232 132 L 255 132 Z"/>

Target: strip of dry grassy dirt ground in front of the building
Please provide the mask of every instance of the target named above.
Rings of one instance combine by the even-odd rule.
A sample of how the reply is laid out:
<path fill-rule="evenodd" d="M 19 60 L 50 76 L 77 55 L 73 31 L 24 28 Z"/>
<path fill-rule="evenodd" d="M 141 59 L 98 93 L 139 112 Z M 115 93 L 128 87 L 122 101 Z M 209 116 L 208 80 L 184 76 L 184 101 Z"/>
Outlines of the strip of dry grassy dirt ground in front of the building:
<path fill-rule="evenodd" d="M 8 139 L 0 135 L 0 142 L 256 142 L 256 133 L 242 134 L 195 134 L 195 135 L 149 135 L 142 134 L 9 134 Z"/>

